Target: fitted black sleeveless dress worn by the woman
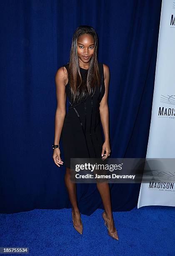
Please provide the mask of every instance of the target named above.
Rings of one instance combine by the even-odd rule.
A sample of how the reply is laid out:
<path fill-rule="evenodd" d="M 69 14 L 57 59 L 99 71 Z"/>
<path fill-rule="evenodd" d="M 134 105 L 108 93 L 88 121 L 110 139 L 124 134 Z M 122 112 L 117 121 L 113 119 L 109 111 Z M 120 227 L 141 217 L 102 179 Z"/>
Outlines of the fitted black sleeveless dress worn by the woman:
<path fill-rule="evenodd" d="M 101 158 L 104 139 L 100 125 L 100 101 L 105 94 L 103 64 L 98 63 L 100 72 L 100 88 L 96 87 L 94 95 L 72 105 L 70 85 L 66 85 L 66 95 L 70 106 L 62 127 L 63 165 L 70 168 L 70 158 Z M 64 65 L 68 71 L 68 63 Z M 82 79 L 88 69 L 80 67 Z"/>

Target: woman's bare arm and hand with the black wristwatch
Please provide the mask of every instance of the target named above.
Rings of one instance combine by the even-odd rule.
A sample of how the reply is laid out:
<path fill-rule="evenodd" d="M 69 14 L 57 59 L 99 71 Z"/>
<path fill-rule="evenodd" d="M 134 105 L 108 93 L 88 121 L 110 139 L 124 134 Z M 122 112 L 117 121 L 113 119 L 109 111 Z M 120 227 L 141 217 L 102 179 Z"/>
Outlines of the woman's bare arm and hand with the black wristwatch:
<path fill-rule="evenodd" d="M 66 115 L 66 92 L 65 92 L 65 80 L 66 80 L 67 71 L 65 67 L 60 67 L 55 75 L 55 84 L 56 84 L 56 96 L 57 96 L 57 109 L 55 113 L 55 138 L 54 144 L 58 145 L 60 142 L 60 136 L 62 131 L 62 126 L 64 123 Z M 57 160 L 56 160 L 57 156 Z M 55 148 L 53 150 L 53 159 L 55 164 L 59 166 L 61 163 L 60 158 L 60 149 Z M 59 164 L 58 164 L 59 162 Z"/>

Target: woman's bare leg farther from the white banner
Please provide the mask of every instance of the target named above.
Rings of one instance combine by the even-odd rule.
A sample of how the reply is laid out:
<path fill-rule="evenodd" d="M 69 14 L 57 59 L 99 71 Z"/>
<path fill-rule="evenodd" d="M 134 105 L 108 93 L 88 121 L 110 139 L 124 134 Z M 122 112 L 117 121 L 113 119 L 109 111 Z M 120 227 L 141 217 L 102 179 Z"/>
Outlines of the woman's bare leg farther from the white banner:
<path fill-rule="evenodd" d="M 66 173 L 65 173 L 65 185 L 66 185 L 69 199 L 72 205 L 72 212 L 75 218 L 75 225 L 80 226 L 81 220 L 80 220 L 80 211 L 77 206 L 76 184 L 71 182 L 70 168 L 67 168 L 67 167 L 66 167 Z"/>

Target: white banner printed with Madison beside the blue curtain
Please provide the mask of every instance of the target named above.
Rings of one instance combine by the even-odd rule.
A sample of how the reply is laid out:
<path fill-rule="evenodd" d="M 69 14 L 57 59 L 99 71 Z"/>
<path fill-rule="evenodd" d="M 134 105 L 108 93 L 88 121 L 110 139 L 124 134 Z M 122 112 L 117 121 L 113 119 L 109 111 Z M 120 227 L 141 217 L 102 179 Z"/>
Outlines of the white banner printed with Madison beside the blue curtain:
<path fill-rule="evenodd" d="M 146 158 L 175 158 L 175 0 L 163 0 L 158 39 L 150 134 Z M 162 166 L 162 167 L 161 167 Z M 175 206 L 175 170 L 161 165 L 170 182 L 142 183 L 138 208 L 146 205 Z"/>

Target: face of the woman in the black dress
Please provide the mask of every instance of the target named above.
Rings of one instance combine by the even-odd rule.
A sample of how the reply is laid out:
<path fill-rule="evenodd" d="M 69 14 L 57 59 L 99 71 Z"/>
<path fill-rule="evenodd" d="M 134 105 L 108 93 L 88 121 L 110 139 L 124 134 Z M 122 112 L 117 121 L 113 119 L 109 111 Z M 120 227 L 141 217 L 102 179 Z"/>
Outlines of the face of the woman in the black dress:
<path fill-rule="evenodd" d="M 88 63 L 94 53 L 94 38 L 90 34 L 83 34 L 77 40 L 77 55 L 81 64 Z M 86 58 L 86 56 L 88 58 Z"/>

